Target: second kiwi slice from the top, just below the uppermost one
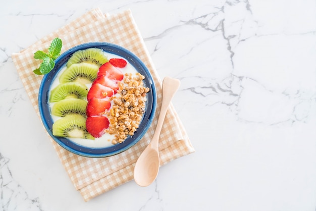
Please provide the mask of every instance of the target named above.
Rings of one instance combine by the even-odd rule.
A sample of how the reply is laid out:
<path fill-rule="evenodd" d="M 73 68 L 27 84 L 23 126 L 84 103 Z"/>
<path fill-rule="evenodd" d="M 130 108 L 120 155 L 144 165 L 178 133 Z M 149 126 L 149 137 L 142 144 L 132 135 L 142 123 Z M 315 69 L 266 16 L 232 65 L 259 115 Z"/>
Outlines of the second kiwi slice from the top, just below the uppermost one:
<path fill-rule="evenodd" d="M 59 77 L 61 83 L 77 81 L 83 84 L 92 83 L 97 77 L 99 66 L 89 63 L 73 64 Z"/>

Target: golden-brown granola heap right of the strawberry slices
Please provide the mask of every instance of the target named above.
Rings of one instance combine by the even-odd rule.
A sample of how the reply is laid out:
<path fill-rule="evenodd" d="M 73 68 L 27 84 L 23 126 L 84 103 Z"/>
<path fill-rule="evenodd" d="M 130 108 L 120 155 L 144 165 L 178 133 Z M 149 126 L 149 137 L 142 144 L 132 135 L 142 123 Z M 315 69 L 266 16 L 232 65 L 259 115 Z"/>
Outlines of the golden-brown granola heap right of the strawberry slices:
<path fill-rule="evenodd" d="M 128 135 L 134 135 L 141 122 L 145 113 L 146 93 L 149 91 L 148 87 L 144 87 L 144 78 L 140 73 L 136 73 L 136 76 L 126 73 L 118 93 L 111 97 L 113 107 L 107 132 L 115 135 L 113 144 L 122 143 Z"/>

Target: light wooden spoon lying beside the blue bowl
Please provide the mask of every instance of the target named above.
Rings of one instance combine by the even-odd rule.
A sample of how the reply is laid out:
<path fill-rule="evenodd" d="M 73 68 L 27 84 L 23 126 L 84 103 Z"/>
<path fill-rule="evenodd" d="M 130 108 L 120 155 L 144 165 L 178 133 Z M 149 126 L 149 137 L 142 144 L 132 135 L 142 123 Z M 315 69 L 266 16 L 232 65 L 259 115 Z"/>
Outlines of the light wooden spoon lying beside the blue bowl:
<path fill-rule="evenodd" d="M 134 168 L 134 180 L 139 186 L 148 186 L 157 177 L 159 171 L 159 136 L 163 127 L 167 109 L 179 86 L 180 81 L 178 79 L 170 78 L 168 76 L 164 78 L 162 106 L 156 130 L 150 143 L 138 157 Z"/>

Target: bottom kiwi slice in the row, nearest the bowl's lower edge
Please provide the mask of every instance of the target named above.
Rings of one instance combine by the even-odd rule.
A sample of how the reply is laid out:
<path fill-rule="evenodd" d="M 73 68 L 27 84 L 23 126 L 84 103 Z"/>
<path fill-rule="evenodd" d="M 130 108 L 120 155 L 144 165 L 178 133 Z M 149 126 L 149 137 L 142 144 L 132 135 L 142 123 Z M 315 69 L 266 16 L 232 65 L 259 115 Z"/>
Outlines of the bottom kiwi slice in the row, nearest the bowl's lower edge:
<path fill-rule="evenodd" d="M 86 118 L 78 114 L 68 115 L 54 122 L 52 134 L 59 137 L 94 139 L 86 129 Z"/>

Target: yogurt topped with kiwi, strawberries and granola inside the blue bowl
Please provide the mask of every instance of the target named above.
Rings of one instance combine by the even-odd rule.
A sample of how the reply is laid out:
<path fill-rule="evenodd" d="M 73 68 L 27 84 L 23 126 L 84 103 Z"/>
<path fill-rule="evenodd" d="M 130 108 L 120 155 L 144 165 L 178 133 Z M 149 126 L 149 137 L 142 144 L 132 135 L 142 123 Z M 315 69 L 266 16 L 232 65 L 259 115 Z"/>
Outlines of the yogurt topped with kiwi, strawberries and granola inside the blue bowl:
<path fill-rule="evenodd" d="M 50 88 L 52 134 L 88 147 L 122 143 L 145 112 L 144 78 L 117 55 L 99 48 L 76 51 Z"/>

